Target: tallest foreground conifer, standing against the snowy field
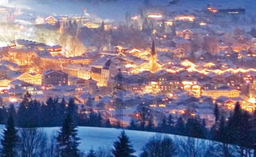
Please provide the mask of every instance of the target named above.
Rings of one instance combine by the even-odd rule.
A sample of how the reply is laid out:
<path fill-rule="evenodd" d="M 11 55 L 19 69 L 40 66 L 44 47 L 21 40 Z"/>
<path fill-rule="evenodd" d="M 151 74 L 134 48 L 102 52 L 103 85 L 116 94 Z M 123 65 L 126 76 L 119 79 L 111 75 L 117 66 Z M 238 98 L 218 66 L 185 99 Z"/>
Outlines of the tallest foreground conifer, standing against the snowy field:
<path fill-rule="evenodd" d="M 78 131 L 73 123 L 72 116 L 67 114 L 59 136 L 57 137 L 57 153 L 59 157 L 79 157 Z"/>

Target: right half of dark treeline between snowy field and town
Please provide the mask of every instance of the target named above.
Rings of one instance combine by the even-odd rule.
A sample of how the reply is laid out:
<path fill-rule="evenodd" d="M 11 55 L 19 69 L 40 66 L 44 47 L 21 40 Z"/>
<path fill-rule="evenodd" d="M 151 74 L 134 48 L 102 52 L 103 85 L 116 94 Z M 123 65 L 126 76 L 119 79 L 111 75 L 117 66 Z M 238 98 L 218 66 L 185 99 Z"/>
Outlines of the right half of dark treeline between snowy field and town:
<path fill-rule="evenodd" d="M 220 114 L 217 104 L 213 113 L 215 124 L 211 129 L 206 128 L 205 120 L 196 116 L 188 116 L 186 120 L 180 117 L 175 122 L 172 115 L 169 115 L 167 118 L 164 117 L 158 126 L 154 126 L 150 109 L 140 104 L 138 118 L 131 120 L 129 129 L 210 139 L 222 143 L 222 156 L 231 156 L 230 145 L 238 147 L 240 156 L 250 156 L 252 150 L 256 149 L 256 112 L 252 114 L 241 110 L 237 102 L 230 115 Z"/>

